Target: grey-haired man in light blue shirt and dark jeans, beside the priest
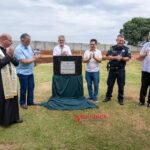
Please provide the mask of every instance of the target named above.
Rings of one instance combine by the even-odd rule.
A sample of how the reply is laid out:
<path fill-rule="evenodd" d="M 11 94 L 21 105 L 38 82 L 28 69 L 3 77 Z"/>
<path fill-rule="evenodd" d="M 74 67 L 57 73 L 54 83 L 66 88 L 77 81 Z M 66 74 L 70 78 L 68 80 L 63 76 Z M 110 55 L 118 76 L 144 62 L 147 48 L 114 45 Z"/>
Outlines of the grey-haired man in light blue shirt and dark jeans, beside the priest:
<path fill-rule="evenodd" d="M 24 33 L 20 37 L 21 44 L 15 49 L 15 57 L 19 60 L 17 75 L 20 82 L 20 105 L 27 109 L 27 105 L 35 105 L 34 99 L 34 62 L 39 56 L 34 55 L 30 46 L 31 37 Z"/>

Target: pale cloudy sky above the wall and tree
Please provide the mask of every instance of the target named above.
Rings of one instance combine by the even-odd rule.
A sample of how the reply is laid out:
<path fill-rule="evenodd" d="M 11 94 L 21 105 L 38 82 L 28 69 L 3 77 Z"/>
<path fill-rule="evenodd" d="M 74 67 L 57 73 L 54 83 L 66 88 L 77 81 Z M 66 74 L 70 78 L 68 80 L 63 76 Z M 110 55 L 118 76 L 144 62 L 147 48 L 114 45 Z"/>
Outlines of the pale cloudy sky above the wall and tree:
<path fill-rule="evenodd" d="M 19 40 L 22 33 L 36 41 L 88 43 L 96 38 L 113 44 L 133 17 L 150 18 L 149 0 L 0 0 L 0 33 Z"/>

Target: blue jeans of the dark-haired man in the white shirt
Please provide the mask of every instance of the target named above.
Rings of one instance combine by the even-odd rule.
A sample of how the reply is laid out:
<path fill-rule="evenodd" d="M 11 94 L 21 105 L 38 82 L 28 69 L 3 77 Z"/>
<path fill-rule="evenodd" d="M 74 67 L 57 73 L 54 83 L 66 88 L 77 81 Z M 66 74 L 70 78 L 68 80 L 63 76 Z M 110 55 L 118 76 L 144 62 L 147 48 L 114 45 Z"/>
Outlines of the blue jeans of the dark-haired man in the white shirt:
<path fill-rule="evenodd" d="M 87 81 L 89 98 L 96 100 L 98 95 L 98 88 L 99 88 L 99 71 L 98 72 L 86 71 L 85 77 Z M 92 87 L 92 83 L 94 84 L 94 90 Z"/>

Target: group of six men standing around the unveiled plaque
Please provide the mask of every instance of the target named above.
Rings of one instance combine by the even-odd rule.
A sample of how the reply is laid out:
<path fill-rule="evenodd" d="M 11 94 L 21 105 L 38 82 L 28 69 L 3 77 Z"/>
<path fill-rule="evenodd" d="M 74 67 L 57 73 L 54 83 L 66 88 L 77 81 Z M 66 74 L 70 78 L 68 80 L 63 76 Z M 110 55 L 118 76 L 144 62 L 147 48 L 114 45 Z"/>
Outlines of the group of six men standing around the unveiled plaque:
<path fill-rule="evenodd" d="M 15 50 L 11 48 L 12 37 L 9 34 L 0 35 L 0 125 L 8 126 L 13 123 L 21 123 L 18 108 L 17 76 L 20 83 L 20 106 L 27 109 L 31 105 L 39 105 L 34 100 L 34 65 L 41 56 L 34 53 L 30 46 L 31 37 L 24 33 L 20 36 L 20 44 Z M 108 60 L 107 92 L 103 102 L 109 102 L 112 97 L 115 81 L 118 84 L 118 102 L 124 104 L 125 66 L 131 59 L 131 51 L 124 45 L 122 35 L 118 35 L 117 44 L 107 52 L 105 59 Z M 63 35 L 58 37 L 58 45 L 53 50 L 54 56 L 71 56 L 71 49 L 65 44 Z M 147 42 L 141 52 L 143 59 L 142 86 L 140 103 L 145 104 L 147 89 L 150 86 L 150 42 Z M 88 99 L 98 101 L 100 66 L 102 53 L 97 49 L 97 40 L 91 39 L 89 49 L 83 55 L 86 63 L 85 78 L 88 88 Z M 150 89 L 148 96 L 150 107 Z"/>

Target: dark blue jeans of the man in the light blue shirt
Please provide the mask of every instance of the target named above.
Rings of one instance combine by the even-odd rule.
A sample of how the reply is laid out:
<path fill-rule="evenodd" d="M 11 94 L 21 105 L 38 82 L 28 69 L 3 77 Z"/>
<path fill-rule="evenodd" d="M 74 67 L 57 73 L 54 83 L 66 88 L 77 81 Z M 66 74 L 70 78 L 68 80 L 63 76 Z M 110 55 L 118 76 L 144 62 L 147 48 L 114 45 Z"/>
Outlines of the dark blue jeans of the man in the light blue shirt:
<path fill-rule="evenodd" d="M 32 105 L 34 99 L 34 76 L 18 74 L 20 82 L 20 105 Z"/>

